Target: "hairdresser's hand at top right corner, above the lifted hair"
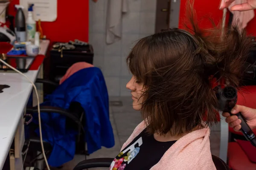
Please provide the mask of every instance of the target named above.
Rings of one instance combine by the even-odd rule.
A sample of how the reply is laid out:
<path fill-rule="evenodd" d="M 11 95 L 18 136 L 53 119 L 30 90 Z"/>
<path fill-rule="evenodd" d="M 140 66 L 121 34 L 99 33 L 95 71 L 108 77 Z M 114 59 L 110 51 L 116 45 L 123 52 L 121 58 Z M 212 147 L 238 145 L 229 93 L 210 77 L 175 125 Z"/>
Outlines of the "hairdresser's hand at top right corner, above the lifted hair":
<path fill-rule="evenodd" d="M 220 9 L 228 8 L 235 0 L 221 0 Z M 231 11 L 248 11 L 256 9 L 256 0 L 247 0 L 247 3 L 237 4 L 231 7 Z"/>

